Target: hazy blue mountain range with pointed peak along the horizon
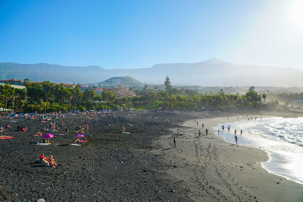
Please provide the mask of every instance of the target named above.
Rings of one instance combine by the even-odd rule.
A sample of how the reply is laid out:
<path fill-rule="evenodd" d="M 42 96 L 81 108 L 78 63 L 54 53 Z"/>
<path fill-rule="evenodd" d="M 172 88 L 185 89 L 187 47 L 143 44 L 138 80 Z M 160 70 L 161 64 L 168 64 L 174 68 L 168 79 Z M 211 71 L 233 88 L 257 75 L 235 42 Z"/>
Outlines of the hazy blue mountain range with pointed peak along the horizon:
<path fill-rule="evenodd" d="M 303 86 L 303 69 L 237 65 L 212 58 L 197 63 L 157 64 L 151 68 L 105 69 L 99 66 L 62 66 L 47 63 L 0 63 L 0 79 L 29 78 L 57 83 L 98 83 L 111 77 L 131 76 L 143 83 L 161 84 L 169 76 L 174 85 Z"/>

